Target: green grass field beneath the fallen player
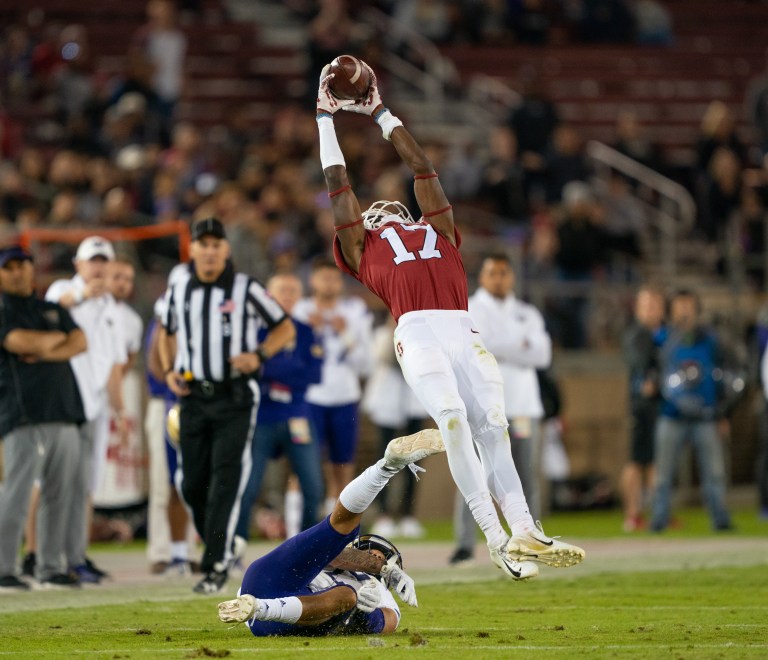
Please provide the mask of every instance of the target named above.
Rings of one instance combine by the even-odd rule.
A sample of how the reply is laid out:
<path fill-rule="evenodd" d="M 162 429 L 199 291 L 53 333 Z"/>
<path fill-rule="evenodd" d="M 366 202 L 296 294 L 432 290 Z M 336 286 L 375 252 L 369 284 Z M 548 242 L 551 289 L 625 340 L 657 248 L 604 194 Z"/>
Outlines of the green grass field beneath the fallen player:
<path fill-rule="evenodd" d="M 450 526 L 432 525 L 429 543 L 403 544 L 420 607 L 403 606 L 400 630 L 385 637 L 256 639 L 216 619 L 229 593 L 195 596 L 191 582 L 2 594 L 0 656 L 767 658 L 768 526 L 743 512 L 737 533 L 714 537 L 706 516 L 683 517 L 685 527 L 663 541 L 620 536 L 615 512 L 549 519 L 549 529 L 584 541 L 587 560 L 542 568 L 526 583 L 490 566 L 448 569 L 450 545 L 439 539 Z M 140 546 L 98 552 L 108 567 L 143 561 Z M 657 570 L 657 559 L 676 568 Z"/>

